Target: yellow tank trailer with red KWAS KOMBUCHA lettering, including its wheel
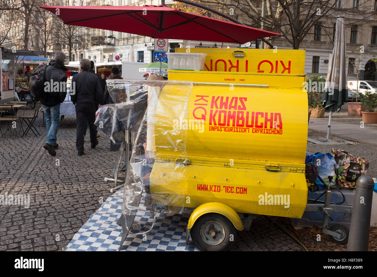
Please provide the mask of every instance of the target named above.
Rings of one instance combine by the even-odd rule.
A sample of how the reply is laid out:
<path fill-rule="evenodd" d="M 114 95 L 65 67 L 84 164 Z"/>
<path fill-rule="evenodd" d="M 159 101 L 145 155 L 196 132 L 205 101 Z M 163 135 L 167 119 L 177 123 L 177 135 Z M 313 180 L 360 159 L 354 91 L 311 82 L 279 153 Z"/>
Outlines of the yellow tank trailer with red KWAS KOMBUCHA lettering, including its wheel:
<path fill-rule="evenodd" d="M 224 250 L 243 230 L 240 214 L 305 210 L 305 51 L 191 50 L 207 54 L 204 71 L 169 71 L 194 86 L 161 90 L 150 192 L 169 210 L 195 209 L 187 229 L 196 245 Z"/>

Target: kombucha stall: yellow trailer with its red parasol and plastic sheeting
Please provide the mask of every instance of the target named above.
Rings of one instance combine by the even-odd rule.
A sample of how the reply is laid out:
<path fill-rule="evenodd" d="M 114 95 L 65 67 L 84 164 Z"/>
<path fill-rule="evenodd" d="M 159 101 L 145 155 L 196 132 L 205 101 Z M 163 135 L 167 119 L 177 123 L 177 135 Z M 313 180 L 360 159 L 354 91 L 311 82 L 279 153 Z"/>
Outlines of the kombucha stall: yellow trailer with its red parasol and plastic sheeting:
<path fill-rule="evenodd" d="M 54 12 L 57 7 L 43 8 Z M 242 44 L 280 35 L 166 6 L 58 8 L 66 24 L 101 24 L 157 38 Z M 98 22 L 100 16 L 109 25 Z M 125 20 L 128 24 L 114 24 Z M 120 248 L 140 210 L 152 219 L 190 214 L 186 243 L 191 237 L 209 251 L 229 249 L 257 215 L 298 219 L 305 211 L 352 213 L 351 205 L 330 203 L 329 186 L 325 204 L 308 204 L 305 50 L 185 50 L 169 53 L 169 80 L 107 81 L 115 104 L 98 111 L 96 124 L 103 124 L 110 138 L 124 133 L 113 171 L 125 152 Z M 136 113 L 134 104 L 146 95 L 148 105 Z M 124 123 L 120 132 L 119 121 Z M 343 229 L 326 227 L 327 234 L 344 241 Z"/>

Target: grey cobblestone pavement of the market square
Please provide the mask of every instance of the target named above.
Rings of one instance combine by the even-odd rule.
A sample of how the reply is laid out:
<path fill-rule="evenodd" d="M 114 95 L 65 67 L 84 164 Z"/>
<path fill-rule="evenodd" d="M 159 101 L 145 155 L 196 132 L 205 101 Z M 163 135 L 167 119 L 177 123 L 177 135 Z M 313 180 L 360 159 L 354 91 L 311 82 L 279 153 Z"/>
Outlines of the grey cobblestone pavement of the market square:
<path fill-rule="evenodd" d="M 25 114 L 33 112 L 28 107 Z M 59 148 L 57 156 L 53 157 L 42 147 L 46 136 L 45 127 L 41 126 L 42 114 L 34 125 L 41 133 L 38 138 L 32 132 L 23 138 L 12 137 L 9 133 L 0 138 L 0 194 L 29 194 L 31 202 L 29 208 L 0 206 L 0 251 L 61 250 L 90 214 L 100 207 L 100 197 L 105 200 L 111 194 L 109 189 L 113 183 L 104 182 L 105 177 L 112 175 L 116 158 L 116 152 L 110 152 L 109 138 L 101 133 L 100 144 L 95 149 L 90 148 L 89 139 L 86 138 L 85 155 L 77 156 L 75 116 L 66 116 L 59 125 Z M 321 147 L 308 145 L 311 152 L 329 151 Z M 377 162 L 375 148 L 373 150 L 363 144 L 348 147 L 354 147 L 351 150 L 370 158 L 371 164 L 372 161 Z M 371 151 L 374 153 L 373 159 L 369 157 Z M 375 166 L 373 168 L 372 172 L 375 172 Z M 290 225 L 289 219 L 272 217 L 272 220 L 290 233 L 300 232 Z M 306 229 L 309 234 L 310 228 Z M 316 236 L 311 234 L 305 245 L 309 250 L 345 250 L 344 246 L 332 245 L 328 239 L 324 240 L 330 245 L 316 242 Z M 266 216 L 254 219 L 250 231 L 239 232 L 231 249 L 303 250 L 299 243 Z"/>

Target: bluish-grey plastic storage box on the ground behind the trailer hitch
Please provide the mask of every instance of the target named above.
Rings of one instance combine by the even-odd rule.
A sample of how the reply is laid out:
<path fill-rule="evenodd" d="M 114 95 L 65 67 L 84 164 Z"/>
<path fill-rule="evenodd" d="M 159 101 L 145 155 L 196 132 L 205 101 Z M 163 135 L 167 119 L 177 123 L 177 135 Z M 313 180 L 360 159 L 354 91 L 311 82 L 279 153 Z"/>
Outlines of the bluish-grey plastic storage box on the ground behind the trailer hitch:
<path fill-rule="evenodd" d="M 354 198 L 355 198 L 355 190 L 349 188 L 338 188 L 344 194 L 346 200 L 342 203 L 343 205 L 351 205 L 353 206 Z M 308 199 L 315 200 L 318 196 L 322 193 L 326 192 L 326 189 L 317 190 L 317 191 L 309 191 Z M 325 195 L 323 194 L 318 200 L 325 201 Z M 332 190 L 331 191 L 331 203 L 339 203 L 343 201 L 343 196 L 339 191 Z M 329 226 L 333 225 L 334 223 L 340 223 L 345 225 L 348 229 L 351 227 L 351 214 L 343 214 L 343 213 L 331 213 L 331 217 L 334 220 L 329 219 Z M 317 225 L 322 228 L 323 225 L 323 213 L 319 212 L 305 212 L 301 218 L 291 218 L 291 223 L 293 226 L 300 226 L 300 227 L 313 227 L 313 225 Z"/>

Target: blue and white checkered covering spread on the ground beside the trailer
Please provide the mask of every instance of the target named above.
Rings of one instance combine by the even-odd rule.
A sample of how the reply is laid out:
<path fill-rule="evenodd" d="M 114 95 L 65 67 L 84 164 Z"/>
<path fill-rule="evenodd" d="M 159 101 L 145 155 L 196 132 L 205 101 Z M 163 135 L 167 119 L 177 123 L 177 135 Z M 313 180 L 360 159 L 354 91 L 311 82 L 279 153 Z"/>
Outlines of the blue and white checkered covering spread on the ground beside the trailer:
<path fill-rule="evenodd" d="M 141 202 L 140 206 L 143 206 L 144 198 Z M 122 227 L 116 224 L 122 213 L 122 203 L 123 188 L 109 196 L 90 215 L 64 250 L 116 251 L 122 239 Z M 120 251 L 199 251 L 191 240 L 186 247 L 185 228 L 188 220 L 188 215 L 181 214 L 162 214 L 154 219 L 149 212 L 139 209 Z M 145 235 L 137 234 L 144 233 L 151 227 L 152 230 Z"/>

